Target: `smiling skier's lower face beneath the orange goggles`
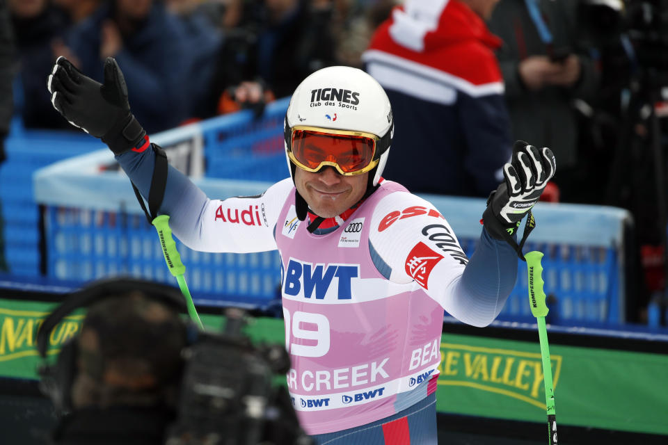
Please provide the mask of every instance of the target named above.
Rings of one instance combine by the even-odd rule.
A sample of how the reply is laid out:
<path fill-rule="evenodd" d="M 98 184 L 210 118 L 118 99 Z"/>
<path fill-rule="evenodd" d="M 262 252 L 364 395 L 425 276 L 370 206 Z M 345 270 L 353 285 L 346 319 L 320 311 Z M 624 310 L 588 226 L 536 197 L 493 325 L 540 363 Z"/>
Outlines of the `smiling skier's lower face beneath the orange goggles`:
<path fill-rule="evenodd" d="M 317 173 L 294 169 L 294 185 L 317 216 L 333 218 L 350 209 L 364 196 L 369 172 L 343 176 L 333 167 Z"/>

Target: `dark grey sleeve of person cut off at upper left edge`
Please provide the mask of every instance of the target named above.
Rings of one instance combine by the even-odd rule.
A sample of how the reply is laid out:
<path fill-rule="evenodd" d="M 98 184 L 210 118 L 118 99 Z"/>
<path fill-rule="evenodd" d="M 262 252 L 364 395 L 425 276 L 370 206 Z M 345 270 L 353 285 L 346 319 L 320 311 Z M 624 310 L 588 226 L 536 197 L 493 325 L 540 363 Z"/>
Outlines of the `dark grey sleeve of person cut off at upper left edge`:
<path fill-rule="evenodd" d="M 13 113 L 14 36 L 6 0 L 0 0 L 0 139 L 9 131 Z"/>

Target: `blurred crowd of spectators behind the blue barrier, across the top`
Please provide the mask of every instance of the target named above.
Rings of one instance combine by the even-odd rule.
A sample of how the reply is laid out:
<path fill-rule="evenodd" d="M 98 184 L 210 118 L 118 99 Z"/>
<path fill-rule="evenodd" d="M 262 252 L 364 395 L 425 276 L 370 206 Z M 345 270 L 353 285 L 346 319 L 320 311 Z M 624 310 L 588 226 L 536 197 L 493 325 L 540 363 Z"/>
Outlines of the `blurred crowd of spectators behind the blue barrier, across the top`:
<path fill-rule="evenodd" d="M 413 143 L 436 157 L 450 150 L 472 176 L 470 184 L 458 181 L 459 189 L 439 189 L 447 175 L 425 175 L 395 153 L 401 171 L 389 165 L 388 179 L 414 192 L 486 197 L 495 186 L 477 183 L 476 175 L 488 178 L 481 147 L 498 155 L 491 170 L 507 160 L 512 140 L 551 147 L 559 167 L 549 199 L 629 209 L 634 270 L 627 276 L 636 277 L 635 298 L 646 303 L 665 286 L 667 1 L 450 0 L 454 22 L 429 16 L 429 5 L 446 1 L 408 1 L 404 13 L 393 11 L 400 0 L 2 3 L 0 88 L 11 86 L 13 94 L 0 91 L 0 159 L 12 115 L 27 129 L 79 131 L 49 103 L 45 83 L 58 56 L 99 81 L 102 60 L 115 57 L 132 111 L 149 133 L 240 108 L 260 113 L 321 67 L 349 65 L 375 75 L 370 67 L 376 64 L 395 102 L 396 145 Z M 420 33 L 432 37 L 416 49 L 411 35 Z M 486 49 L 466 46 L 471 39 Z M 392 63 L 374 58 L 377 50 L 408 65 L 417 59 L 406 51 L 433 50 L 429 62 L 417 62 L 475 88 L 450 90 L 452 100 L 424 97 L 418 72 L 396 77 L 401 63 L 383 83 Z M 393 86 L 392 79 L 414 82 L 417 93 Z M 481 92 L 481 85 L 494 86 L 498 97 Z M 429 108 L 434 103 L 443 108 Z M 447 108 L 453 104 L 459 104 L 454 112 Z M 436 185 L 421 183 L 424 177 Z"/>

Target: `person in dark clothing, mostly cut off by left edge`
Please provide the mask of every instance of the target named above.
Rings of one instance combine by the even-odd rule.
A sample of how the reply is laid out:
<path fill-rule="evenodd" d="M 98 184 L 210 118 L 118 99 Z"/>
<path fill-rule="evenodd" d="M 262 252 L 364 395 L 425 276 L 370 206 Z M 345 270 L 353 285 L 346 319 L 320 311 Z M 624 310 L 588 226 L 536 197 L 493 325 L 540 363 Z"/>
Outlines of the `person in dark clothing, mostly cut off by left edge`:
<path fill-rule="evenodd" d="M 12 79 L 14 77 L 14 39 L 5 1 L 0 1 L 0 167 L 5 160 L 4 141 L 9 133 L 12 120 Z M 5 242 L 0 200 L 0 271 L 7 270 L 5 263 Z"/>

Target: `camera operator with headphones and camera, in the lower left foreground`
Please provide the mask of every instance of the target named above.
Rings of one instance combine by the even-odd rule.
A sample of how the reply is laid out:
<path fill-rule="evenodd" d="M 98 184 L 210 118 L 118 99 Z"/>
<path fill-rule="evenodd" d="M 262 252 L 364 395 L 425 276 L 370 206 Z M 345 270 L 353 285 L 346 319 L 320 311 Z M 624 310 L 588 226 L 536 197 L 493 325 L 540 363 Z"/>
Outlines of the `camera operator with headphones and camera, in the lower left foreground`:
<path fill-rule="evenodd" d="M 239 311 L 225 334 L 200 332 L 183 321 L 177 289 L 101 280 L 67 296 L 44 321 L 43 358 L 51 330 L 79 307 L 88 307 L 81 332 L 55 365 L 45 360 L 39 370 L 42 391 L 64 414 L 51 444 L 309 443 L 287 391 L 272 386 L 276 369 L 289 368 L 287 353 L 251 345 Z"/>

